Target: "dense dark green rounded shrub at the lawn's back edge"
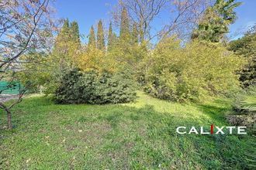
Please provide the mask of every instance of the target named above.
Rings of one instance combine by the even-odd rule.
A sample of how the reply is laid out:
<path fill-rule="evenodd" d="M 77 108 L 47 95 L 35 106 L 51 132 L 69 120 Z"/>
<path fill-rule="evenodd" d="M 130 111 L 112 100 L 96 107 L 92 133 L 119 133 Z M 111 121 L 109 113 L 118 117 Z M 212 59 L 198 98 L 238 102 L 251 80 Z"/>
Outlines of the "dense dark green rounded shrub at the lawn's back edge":
<path fill-rule="evenodd" d="M 135 86 L 129 73 L 75 69 L 67 73 L 55 93 L 58 104 L 118 104 L 133 101 Z"/>

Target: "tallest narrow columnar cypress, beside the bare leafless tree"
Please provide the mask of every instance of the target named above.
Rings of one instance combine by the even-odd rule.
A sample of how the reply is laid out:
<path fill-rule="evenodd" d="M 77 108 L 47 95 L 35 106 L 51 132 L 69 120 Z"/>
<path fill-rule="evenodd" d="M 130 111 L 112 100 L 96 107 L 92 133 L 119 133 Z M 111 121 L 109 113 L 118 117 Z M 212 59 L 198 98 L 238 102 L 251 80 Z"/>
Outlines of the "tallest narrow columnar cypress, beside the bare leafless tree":
<path fill-rule="evenodd" d="M 120 39 L 127 41 L 130 39 L 130 21 L 126 8 L 123 8 L 121 14 Z"/>

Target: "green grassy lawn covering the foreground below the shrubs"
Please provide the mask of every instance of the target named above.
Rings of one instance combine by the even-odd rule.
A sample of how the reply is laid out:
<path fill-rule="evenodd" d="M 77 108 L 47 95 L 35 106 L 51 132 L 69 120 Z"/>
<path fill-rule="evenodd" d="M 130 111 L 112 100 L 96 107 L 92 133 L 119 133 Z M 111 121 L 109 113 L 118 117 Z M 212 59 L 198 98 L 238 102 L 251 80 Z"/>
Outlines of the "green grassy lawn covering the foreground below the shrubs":
<path fill-rule="evenodd" d="M 247 165 L 248 135 L 182 135 L 178 126 L 227 125 L 229 100 L 176 104 L 138 92 L 136 103 L 56 105 L 28 97 L 0 112 L 0 169 L 230 168 Z"/>

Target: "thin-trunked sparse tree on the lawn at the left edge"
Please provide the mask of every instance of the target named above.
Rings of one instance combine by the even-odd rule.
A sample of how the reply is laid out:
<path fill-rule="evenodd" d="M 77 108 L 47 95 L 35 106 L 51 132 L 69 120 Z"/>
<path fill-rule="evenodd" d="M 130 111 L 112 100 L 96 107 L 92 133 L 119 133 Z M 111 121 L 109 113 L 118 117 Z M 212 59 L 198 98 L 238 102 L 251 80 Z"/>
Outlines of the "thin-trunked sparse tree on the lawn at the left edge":
<path fill-rule="evenodd" d="M 3 0 L 0 2 L 0 19 L 0 79 L 9 82 L 6 88 L 12 88 L 17 80 L 16 73 L 22 71 L 22 63 L 36 63 L 33 59 L 22 60 L 21 56 L 50 49 L 48 45 L 51 41 L 47 40 L 52 36 L 54 22 L 49 0 Z M 2 100 L 0 102 L 0 108 L 7 114 L 9 129 L 12 129 L 11 108 L 22 101 L 29 84 L 23 86 L 12 104 L 8 106 Z M 0 93 L 4 93 L 4 90 Z"/>

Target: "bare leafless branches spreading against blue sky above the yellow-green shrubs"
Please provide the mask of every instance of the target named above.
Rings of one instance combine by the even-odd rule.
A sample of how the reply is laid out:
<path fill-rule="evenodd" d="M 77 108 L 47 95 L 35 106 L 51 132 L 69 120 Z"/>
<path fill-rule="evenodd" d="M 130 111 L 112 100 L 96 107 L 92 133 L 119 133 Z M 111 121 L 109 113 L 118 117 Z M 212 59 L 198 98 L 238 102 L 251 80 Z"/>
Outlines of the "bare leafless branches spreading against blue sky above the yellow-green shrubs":
<path fill-rule="evenodd" d="M 119 0 L 112 16 L 115 24 L 119 26 L 122 10 L 126 8 L 130 23 L 137 26 L 139 42 L 153 39 L 155 42 L 174 34 L 188 39 L 197 26 L 198 19 L 211 2 L 211 0 Z M 154 23 L 162 12 L 168 20 L 162 27 L 155 26 Z"/>

